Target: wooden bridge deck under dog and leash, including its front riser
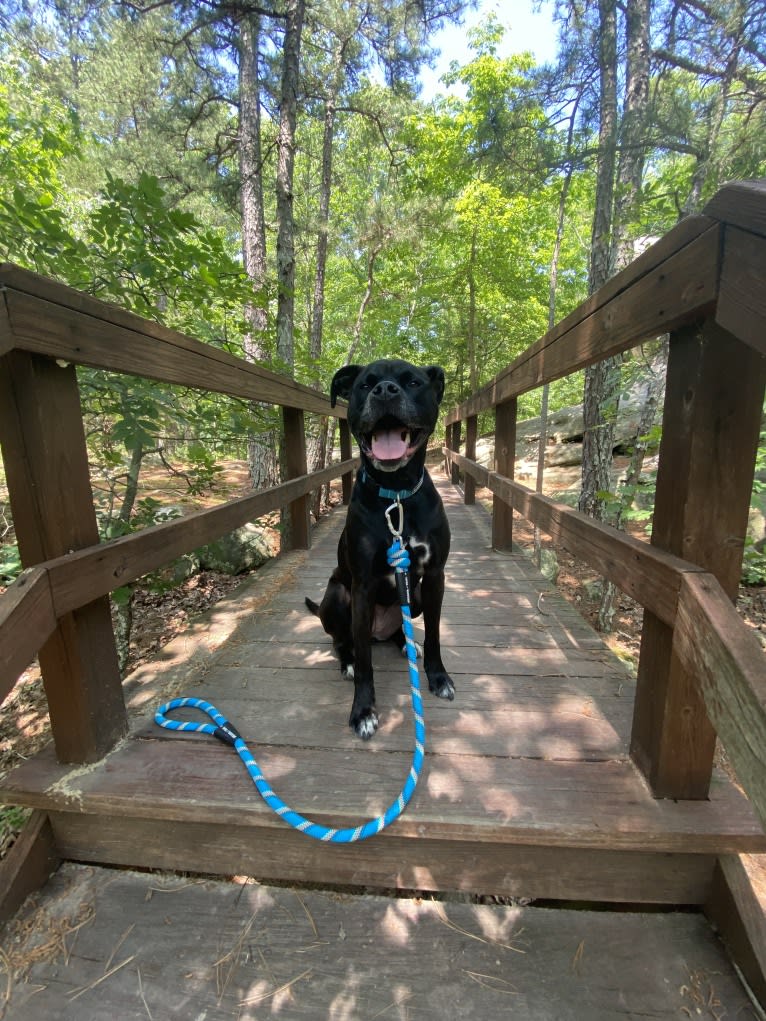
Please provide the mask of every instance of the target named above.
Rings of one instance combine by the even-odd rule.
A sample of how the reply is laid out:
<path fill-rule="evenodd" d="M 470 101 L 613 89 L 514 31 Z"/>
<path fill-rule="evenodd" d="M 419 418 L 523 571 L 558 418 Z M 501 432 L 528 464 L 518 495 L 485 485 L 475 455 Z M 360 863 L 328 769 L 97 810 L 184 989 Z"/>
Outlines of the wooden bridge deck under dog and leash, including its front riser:
<path fill-rule="evenodd" d="M 384 810 L 410 768 L 405 664 L 374 650 L 381 729 L 348 729 L 351 686 L 303 605 L 330 574 L 343 512 L 290 554 L 269 598 L 251 588 L 213 607 L 131 681 L 132 734 L 101 764 L 23 764 L 0 796 L 50 810 L 61 853 L 201 871 L 513 895 L 701 903 L 714 856 L 766 849 L 747 799 L 727 781 L 710 801 L 656 801 L 626 756 L 634 685 L 580 615 L 525 556 L 495 553 L 480 507 L 437 479 L 453 550 L 443 654 L 454 702 L 426 691 L 426 771 L 406 813 L 363 847 L 316 845 L 262 804 L 230 748 L 156 728 L 154 708 L 208 698 L 251 741 L 275 789 L 332 825 Z M 217 635 L 228 614 L 235 626 Z M 196 643 L 213 646 L 184 669 Z M 183 649 L 183 654 L 179 650 Z M 402 866 L 402 863 L 404 865 Z M 567 892 L 569 891 L 569 892 Z"/>

